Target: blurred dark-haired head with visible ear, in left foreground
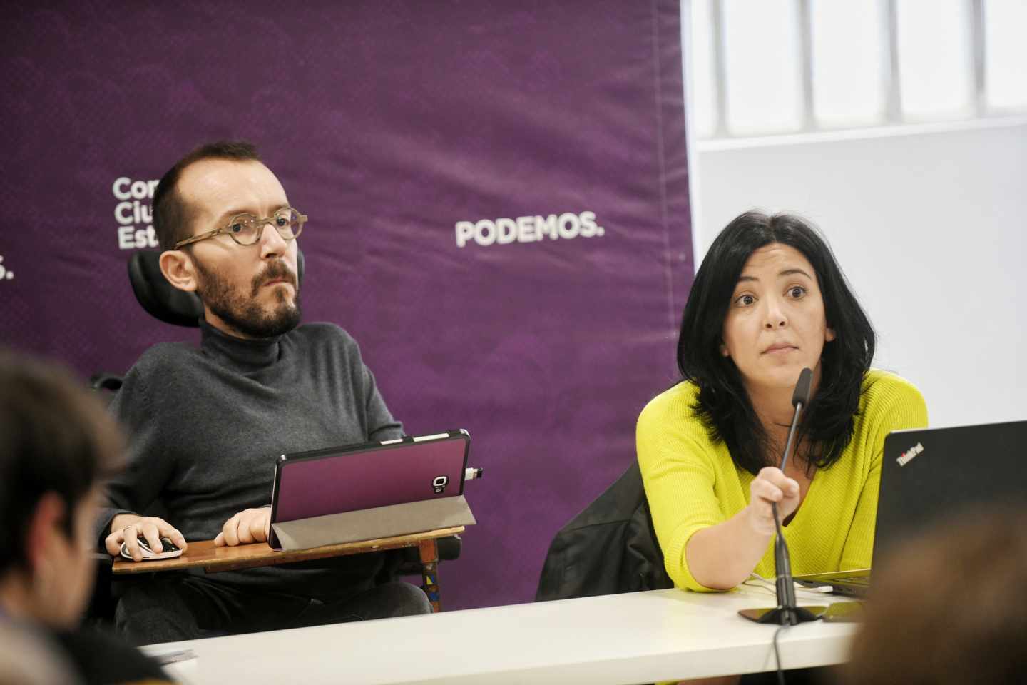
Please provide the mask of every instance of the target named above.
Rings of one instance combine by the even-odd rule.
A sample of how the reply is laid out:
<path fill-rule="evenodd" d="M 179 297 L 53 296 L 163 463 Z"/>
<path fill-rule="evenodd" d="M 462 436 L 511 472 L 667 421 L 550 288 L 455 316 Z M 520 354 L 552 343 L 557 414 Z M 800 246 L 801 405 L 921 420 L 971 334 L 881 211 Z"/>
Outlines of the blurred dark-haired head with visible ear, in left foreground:
<path fill-rule="evenodd" d="M 122 439 L 70 373 L 0 349 L 0 611 L 53 629 L 89 599 L 101 481 Z"/>

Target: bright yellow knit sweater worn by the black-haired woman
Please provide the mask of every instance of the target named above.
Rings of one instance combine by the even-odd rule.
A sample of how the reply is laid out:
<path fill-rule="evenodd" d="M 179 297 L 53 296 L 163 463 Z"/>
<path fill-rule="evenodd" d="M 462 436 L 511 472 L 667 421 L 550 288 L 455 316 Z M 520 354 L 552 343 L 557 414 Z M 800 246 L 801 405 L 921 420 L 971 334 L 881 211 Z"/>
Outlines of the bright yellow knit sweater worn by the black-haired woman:
<path fill-rule="evenodd" d="M 679 383 L 654 397 L 639 416 L 639 466 L 663 550 L 667 572 L 679 587 L 710 592 L 688 571 L 685 545 L 692 534 L 730 519 L 749 504 L 753 475 L 737 468 L 727 446 L 714 443 L 695 415 L 698 388 Z M 882 371 L 863 381 L 852 441 L 832 466 L 817 470 L 792 522 L 784 529 L 794 573 L 866 568 L 874 544 L 877 489 L 884 436 L 927 425 L 920 392 Z M 774 574 L 773 543 L 754 569 Z"/>

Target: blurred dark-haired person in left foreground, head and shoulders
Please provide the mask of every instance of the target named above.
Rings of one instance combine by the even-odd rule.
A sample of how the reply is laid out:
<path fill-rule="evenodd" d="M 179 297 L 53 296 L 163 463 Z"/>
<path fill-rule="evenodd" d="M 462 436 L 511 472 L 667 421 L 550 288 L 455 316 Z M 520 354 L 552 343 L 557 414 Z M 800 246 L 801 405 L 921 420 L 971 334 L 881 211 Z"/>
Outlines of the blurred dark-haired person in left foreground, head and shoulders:
<path fill-rule="evenodd" d="M 0 678 L 37 682 L 28 668 L 43 682 L 167 682 L 138 650 L 76 630 L 92 591 L 101 487 L 123 459 L 113 419 L 69 372 L 0 349 Z M 12 653 L 15 644 L 29 647 Z"/>

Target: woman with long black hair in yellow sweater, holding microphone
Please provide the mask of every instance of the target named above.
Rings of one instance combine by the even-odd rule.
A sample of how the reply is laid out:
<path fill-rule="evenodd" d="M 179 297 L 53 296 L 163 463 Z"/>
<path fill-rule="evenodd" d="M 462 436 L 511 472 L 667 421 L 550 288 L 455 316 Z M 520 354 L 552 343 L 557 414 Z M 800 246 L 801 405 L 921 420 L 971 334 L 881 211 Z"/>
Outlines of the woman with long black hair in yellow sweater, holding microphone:
<path fill-rule="evenodd" d="M 771 502 L 795 573 L 870 566 L 884 436 L 927 423 L 912 384 L 870 369 L 874 337 L 830 249 L 798 217 L 747 213 L 717 237 L 682 317 L 683 380 L 638 421 L 653 527 L 679 587 L 774 575 Z M 782 472 L 805 367 L 812 395 Z"/>

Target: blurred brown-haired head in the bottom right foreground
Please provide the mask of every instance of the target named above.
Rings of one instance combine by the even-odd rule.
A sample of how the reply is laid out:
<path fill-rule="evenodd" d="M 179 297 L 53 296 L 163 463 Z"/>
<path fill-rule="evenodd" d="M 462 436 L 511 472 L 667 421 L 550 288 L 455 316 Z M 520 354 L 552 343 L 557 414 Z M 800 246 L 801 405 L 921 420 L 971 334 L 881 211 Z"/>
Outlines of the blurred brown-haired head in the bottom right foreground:
<path fill-rule="evenodd" d="M 874 567 L 850 685 L 1027 681 L 1027 509 L 984 508 Z"/>

